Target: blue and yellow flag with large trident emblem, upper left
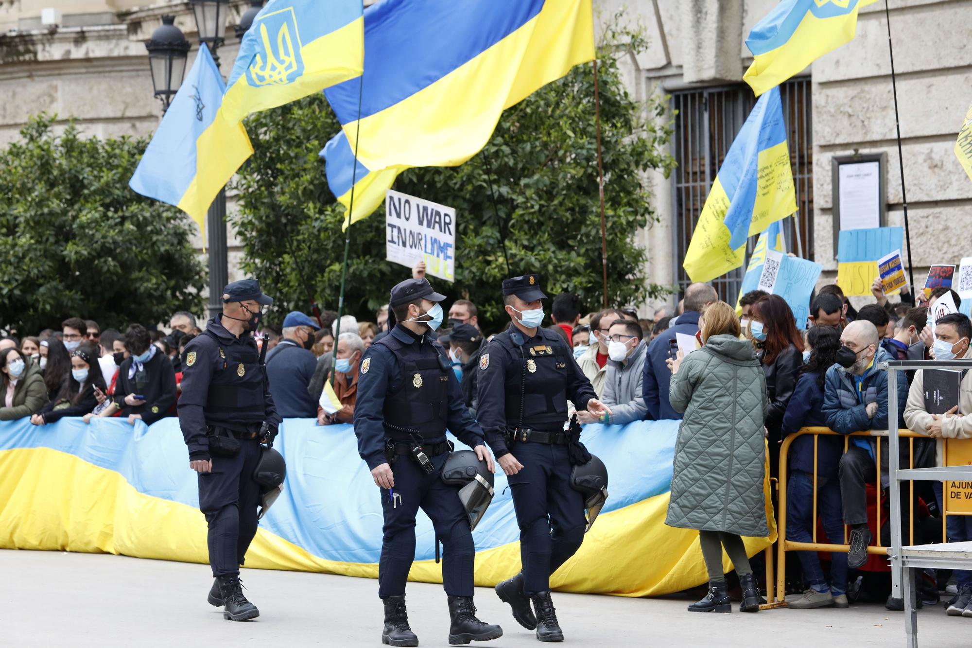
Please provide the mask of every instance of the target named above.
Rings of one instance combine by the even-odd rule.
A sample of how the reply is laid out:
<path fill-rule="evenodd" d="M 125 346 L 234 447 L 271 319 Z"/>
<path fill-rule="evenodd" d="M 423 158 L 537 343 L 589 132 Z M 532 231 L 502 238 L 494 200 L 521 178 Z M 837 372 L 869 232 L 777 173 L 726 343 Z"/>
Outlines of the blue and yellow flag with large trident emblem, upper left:
<path fill-rule="evenodd" d="M 361 76 L 362 0 L 270 0 L 243 36 L 226 84 L 226 121 Z"/>

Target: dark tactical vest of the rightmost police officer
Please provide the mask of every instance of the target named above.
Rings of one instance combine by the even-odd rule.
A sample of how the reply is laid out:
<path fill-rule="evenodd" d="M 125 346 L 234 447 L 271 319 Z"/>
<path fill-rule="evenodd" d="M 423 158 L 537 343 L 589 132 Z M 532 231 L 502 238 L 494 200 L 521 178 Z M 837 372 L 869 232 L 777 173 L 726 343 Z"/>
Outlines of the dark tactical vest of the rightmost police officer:
<path fill-rule="evenodd" d="M 507 423 L 548 432 L 562 430 L 567 420 L 567 363 L 573 362 L 566 355 L 566 346 L 542 334 L 522 345 L 513 340 L 516 334 L 501 335 L 503 345 L 512 349 L 516 368 L 506 372 Z"/>

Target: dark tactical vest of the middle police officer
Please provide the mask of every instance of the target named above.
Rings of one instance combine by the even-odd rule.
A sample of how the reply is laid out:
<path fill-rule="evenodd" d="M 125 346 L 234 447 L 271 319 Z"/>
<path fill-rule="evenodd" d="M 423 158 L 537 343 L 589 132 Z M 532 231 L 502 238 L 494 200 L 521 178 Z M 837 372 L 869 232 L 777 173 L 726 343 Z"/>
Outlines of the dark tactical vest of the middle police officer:
<path fill-rule="evenodd" d="M 406 344 L 395 336 L 385 336 L 375 344 L 384 344 L 399 362 L 401 385 L 386 394 L 385 431 L 390 439 L 406 441 L 406 430 L 424 439 L 445 434 L 449 416 L 449 374 L 452 367 L 439 358 L 445 354 L 434 342 Z"/>

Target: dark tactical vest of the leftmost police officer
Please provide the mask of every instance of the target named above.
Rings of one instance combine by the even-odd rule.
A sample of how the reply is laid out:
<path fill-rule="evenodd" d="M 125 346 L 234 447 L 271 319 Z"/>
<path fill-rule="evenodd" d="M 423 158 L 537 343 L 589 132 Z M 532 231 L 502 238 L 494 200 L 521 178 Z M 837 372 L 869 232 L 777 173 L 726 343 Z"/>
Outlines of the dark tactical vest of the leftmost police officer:
<path fill-rule="evenodd" d="M 263 372 L 256 343 L 225 345 L 218 336 L 203 331 L 216 342 L 218 369 L 209 381 L 206 423 L 261 423 L 266 415 L 263 403 Z M 230 425 L 231 426 L 231 425 Z"/>

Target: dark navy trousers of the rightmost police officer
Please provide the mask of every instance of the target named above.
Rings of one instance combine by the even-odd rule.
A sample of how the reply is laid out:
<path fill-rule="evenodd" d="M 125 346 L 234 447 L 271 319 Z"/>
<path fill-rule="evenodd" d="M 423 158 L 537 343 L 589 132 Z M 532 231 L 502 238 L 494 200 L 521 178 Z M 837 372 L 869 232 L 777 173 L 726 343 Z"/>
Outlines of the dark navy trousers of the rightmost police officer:
<path fill-rule="evenodd" d="M 508 478 L 520 526 L 523 592 L 538 594 L 550 589 L 550 575 L 584 541 L 584 498 L 570 485 L 567 446 L 514 442 L 510 452 L 523 464 Z"/>

